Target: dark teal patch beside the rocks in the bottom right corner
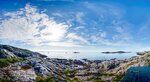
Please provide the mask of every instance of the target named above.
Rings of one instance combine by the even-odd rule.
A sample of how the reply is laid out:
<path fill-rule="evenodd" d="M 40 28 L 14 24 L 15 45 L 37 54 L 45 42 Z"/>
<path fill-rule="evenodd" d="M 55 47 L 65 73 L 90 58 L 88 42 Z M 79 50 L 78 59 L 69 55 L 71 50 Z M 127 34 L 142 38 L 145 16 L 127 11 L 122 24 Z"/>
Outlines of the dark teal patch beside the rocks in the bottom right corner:
<path fill-rule="evenodd" d="M 122 82 L 150 82 L 150 66 L 129 68 Z"/>

